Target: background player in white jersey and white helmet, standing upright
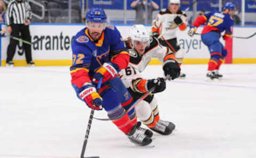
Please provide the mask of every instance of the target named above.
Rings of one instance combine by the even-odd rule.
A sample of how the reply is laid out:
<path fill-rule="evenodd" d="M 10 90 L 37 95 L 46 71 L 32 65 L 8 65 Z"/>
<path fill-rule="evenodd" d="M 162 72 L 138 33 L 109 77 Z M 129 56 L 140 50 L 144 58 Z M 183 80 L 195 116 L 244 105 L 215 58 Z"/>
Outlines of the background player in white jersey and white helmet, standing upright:
<path fill-rule="evenodd" d="M 177 43 L 176 32 L 186 30 L 188 19 L 187 15 L 180 9 L 180 0 L 170 0 L 169 8 L 162 9 L 153 22 L 153 36 L 159 39 L 161 45 L 169 47 L 174 53 L 179 63 L 185 56 L 185 51 Z M 181 73 L 180 78 L 185 78 L 186 74 Z"/>

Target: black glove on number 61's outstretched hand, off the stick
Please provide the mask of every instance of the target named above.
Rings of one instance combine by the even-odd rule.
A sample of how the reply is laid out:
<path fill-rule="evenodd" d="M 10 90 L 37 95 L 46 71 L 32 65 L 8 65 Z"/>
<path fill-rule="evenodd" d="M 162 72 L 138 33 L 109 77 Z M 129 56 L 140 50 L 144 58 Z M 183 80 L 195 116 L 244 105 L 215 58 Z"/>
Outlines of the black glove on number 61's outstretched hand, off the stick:
<path fill-rule="evenodd" d="M 163 70 L 168 80 L 174 80 L 180 76 L 180 66 L 176 60 L 167 59 L 164 62 Z"/>

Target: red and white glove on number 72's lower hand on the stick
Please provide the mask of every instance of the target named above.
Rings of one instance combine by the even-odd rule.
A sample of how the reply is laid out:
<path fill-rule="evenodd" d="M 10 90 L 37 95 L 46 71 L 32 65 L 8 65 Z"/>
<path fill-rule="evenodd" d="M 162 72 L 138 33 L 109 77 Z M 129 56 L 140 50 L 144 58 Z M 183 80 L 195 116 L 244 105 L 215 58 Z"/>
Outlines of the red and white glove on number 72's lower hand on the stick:
<path fill-rule="evenodd" d="M 93 86 L 87 86 L 86 89 L 79 93 L 79 98 L 85 101 L 87 106 L 92 109 L 102 109 L 102 98 Z"/>

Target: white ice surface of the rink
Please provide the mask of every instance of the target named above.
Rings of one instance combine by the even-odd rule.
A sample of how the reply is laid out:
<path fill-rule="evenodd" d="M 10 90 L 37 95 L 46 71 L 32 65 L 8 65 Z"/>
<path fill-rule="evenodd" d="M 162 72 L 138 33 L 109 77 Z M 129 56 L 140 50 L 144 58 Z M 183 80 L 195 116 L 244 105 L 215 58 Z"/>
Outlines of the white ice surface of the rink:
<path fill-rule="evenodd" d="M 177 130 L 134 146 L 110 121 L 93 120 L 85 156 L 104 158 L 256 157 L 256 65 L 223 65 L 222 81 L 205 81 L 207 65 L 183 65 L 185 80 L 157 94 L 160 117 Z M 162 76 L 148 66 L 148 78 Z M 76 98 L 68 67 L 0 67 L 0 157 L 79 157 L 90 109 Z M 95 111 L 106 118 L 106 112 Z"/>

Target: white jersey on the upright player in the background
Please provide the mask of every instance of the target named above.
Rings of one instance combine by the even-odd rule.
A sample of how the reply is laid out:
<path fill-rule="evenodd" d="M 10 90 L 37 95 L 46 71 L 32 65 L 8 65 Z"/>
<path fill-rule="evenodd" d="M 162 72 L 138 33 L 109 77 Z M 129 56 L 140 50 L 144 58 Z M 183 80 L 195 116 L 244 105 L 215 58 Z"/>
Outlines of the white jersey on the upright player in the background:
<path fill-rule="evenodd" d="M 180 16 L 183 21 L 182 25 L 177 25 L 174 23 L 176 16 Z M 181 10 L 176 14 L 172 13 L 170 10 L 162 9 L 156 17 L 156 20 L 153 22 L 152 32 L 158 32 L 159 39 L 169 40 L 176 38 L 176 31 L 178 28 L 180 30 L 185 30 L 187 28 L 188 18 Z"/>

